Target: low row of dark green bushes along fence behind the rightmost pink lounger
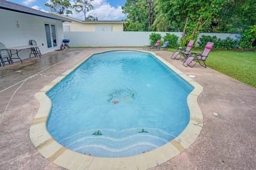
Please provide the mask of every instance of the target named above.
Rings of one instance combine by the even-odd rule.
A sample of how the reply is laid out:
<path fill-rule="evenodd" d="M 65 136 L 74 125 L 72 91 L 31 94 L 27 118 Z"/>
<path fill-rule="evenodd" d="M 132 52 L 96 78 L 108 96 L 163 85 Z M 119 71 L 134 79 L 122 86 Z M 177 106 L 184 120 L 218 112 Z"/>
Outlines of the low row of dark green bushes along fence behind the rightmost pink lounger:
<path fill-rule="evenodd" d="M 207 42 L 212 42 L 214 43 L 213 48 L 214 49 L 235 49 L 238 45 L 238 40 L 227 37 L 226 39 L 220 39 L 217 38 L 216 36 L 202 36 L 200 38 L 200 41 L 198 42 L 199 48 L 204 48 Z"/>

